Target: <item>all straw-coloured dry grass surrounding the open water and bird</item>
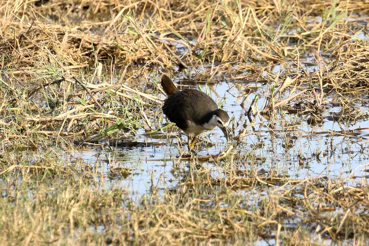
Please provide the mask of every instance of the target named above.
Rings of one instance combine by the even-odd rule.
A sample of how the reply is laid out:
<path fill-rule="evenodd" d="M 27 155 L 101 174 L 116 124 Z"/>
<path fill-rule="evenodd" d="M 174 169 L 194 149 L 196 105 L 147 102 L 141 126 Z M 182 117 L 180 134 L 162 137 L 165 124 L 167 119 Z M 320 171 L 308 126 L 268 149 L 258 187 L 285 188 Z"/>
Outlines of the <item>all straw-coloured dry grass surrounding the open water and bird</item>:
<path fill-rule="evenodd" d="M 189 169 L 168 161 L 178 186 L 152 181 L 137 199 L 108 182 L 131 169 L 106 175 L 97 163 L 113 159 L 70 156 L 87 142 L 160 128 L 161 72 L 268 83 L 265 108 L 253 104 L 249 117 L 268 118 L 286 142 L 296 125 L 276 129 L 284 112 L 308 114 L 313 125 L 338 105 L 332 121 L 366 119 L 355 101 L 368 99 L 355 96 L 369 88 L 368 9 L 365 1 L 0 1 L 3 245 L 365 244 L 366 173 L 292 179 L 260 170 L 265 158 L 240 150 L 261 134 L 248 133 L 254 123 L 222 159 L 209 156 L 221 176 L 200 159 Z M 356 131 L 314 132 L 323 133 Z M 59 145 L 72 154 L 50 148 Z"/>

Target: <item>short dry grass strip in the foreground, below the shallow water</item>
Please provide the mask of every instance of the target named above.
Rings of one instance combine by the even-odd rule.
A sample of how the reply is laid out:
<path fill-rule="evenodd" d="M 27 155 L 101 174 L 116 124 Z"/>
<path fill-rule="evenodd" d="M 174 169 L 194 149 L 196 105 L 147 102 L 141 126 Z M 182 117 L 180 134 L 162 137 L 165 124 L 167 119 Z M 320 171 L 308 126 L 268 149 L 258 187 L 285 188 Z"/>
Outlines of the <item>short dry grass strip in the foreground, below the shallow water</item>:
<path fill-rule="evenodd" d="M 37 166 L 24 160 L 1 174 L 8 184 L 0 206 L 4 244 L 366 242 L 368 187 L 349 185 L 351 177 L 294 180 L 234 167 L 214 179 L 200 168 L 178 171 L 175 190 L 154 186 L 132 200 L 119 185 L 101 188 L 108 181 L 89 164 L 50 154 L 36 158 Z"/>

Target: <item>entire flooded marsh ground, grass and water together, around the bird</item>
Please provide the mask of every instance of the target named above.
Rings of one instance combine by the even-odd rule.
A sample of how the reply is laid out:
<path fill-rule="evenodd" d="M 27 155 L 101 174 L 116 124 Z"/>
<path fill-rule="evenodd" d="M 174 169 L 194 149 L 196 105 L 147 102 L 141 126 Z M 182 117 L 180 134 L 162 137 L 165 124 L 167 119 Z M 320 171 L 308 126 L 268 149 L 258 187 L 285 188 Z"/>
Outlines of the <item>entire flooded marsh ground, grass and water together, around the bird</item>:
<path fill-rule="evenodd" d="M 365 3 L 42 1 L 33 9 L 31 2 L 3 7 L 10 13 L 0 90 L 5 242 L 366 242 Z M 82 82 L 92 80 L 88 88 L 104 110 L 76 81 L 61 79 L 59 62 Z M 225 160 L 179 160 L 187 137 L 176 128 L 147 134 L 142 120 L 145 111 L 153 126 L 165 126 L 160 104 L 98 86 L 123 82 L 164 98 L 154 83 L 162 72 L 201 87 L 231 115 L 230 142 L 214 129 L 196 143 L 198 157 L 232 146 Z M 299 79 L 275 101 L 305 92 L 261 114 L 287 76 Z M 71 111 L 63 122 L 53 118 L 85 103 L 91 107 L 77 111 L 81 118 Z M 101 114 L 108 109 L 111 121 Z M 136 119 L 143 127 L 82 145 L 122 115 L 132 117 L 130 130 Z"/>

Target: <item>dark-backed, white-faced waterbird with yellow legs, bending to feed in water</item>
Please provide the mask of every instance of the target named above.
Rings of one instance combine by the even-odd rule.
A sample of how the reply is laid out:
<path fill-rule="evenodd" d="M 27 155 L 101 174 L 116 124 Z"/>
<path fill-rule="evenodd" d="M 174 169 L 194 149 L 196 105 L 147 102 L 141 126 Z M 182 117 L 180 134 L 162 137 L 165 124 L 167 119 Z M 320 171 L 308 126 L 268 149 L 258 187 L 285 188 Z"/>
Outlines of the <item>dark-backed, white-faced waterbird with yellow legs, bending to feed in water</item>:
<path fill-rule="evenodd" d="M 166 75 L 162 76 L 161 86 L 167 95 L 163 113 L 187 135 L 189 151 L 193 150 L 197 136 L 215 127 L 222 130 L 228 141 L 230 117 L 211 97 L 196 89 L 179 90 Z"/>

